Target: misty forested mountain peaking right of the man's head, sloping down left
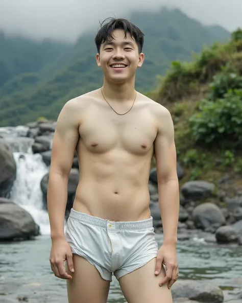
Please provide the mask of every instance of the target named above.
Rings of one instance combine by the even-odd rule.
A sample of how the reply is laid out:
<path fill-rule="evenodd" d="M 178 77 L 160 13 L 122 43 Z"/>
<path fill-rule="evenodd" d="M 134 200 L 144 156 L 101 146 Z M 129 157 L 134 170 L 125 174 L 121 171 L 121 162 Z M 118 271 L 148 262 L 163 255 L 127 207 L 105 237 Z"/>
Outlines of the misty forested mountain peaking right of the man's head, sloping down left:
<path fill-rule="evenodd" d="M 160 81 L 157 76 L 164 75 L 172 61 L 190 61 L 192 53 L 202 51 L 205 45 L 230 37 L 225 29 L 203 26 L 177 9 L 135 12 L 129 19 L 145 34 L 146 59 L 136 77 L 136 88 L 141 92 L 153 90 Z M 39 116 L 56 119 L 67 100 L 102 85 L 102 72 L 95 62 L 94 35 L 91 31 L 82 35 L 35 75 L 19 75 L 5 83 L 0 88 L 0 96 L 5 96 L 0 99 L 0 126 L 27 123 Z"/>

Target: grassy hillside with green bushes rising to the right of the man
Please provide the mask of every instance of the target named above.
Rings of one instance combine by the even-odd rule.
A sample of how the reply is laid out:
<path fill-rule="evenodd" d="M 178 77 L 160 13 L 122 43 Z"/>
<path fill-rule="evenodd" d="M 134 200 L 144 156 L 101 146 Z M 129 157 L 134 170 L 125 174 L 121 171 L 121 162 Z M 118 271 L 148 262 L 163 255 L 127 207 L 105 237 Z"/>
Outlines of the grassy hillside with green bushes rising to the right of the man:
<path fill-rule="evenodd" d="M 241 190 L 242 30 L 192 62 L 173 62 L 150 95 L 172 113 L 178 160 L 186 171 L 181 185 L 203 179 L 231 196 Z"/>

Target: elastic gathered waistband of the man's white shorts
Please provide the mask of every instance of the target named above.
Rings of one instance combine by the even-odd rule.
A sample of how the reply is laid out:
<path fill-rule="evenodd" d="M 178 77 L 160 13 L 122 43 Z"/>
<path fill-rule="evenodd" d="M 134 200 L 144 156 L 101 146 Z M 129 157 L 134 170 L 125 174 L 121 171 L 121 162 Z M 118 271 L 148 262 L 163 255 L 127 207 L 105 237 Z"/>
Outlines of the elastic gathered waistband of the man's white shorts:
<path fill-rule="evenodd" d="M 81 221 L 83 223 L 96 225 L 98 227 L 110 228 L 112 229 L 146 229 L 153 227 L 153 218 L 150 217 L 146 220 L 141 221 L 110 221 L 102 218 L 94 217 L 85 213 L 80 213 L 75 211 L 75 209 L 70 209 L 69 218 Z M 110 226 L 111 225 L 111 226 Z"/>

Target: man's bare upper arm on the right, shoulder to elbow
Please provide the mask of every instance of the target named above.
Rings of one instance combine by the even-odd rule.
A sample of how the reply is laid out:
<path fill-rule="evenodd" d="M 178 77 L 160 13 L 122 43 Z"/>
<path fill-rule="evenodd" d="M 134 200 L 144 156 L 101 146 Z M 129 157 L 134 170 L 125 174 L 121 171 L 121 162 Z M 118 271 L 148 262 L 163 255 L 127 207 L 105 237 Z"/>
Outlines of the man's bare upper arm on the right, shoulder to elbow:
<path fill-rule="evenodd" d="M 157 136 L 154 142 L 158 182 L 177 178 L 177 154 L 174 124 L 170 112 L 158 105 L 156 111 Z"/>

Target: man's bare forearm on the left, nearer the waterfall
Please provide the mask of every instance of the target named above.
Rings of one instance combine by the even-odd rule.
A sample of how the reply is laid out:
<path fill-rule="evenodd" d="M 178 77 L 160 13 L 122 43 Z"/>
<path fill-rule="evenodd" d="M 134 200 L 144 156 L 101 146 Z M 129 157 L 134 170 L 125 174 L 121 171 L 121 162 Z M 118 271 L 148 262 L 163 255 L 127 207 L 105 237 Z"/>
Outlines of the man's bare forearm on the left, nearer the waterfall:
<path fill-rule="evenodd" d="M 47 209 L 49 213 L 51 238 L 64 237 L 64 218 L 67 202 L 68 176 L 50 174 L 47 191 Z"/>

